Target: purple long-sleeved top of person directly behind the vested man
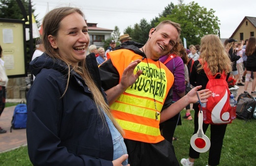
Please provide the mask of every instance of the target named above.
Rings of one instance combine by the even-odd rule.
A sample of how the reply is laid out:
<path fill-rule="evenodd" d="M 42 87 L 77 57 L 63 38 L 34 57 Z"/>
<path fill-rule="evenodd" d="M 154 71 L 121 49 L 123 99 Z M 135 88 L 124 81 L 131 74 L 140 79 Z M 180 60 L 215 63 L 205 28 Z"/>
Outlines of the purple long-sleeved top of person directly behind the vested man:
<path fill-rule="evenodd" d="M 168 56 L 160 57 L 160 62 L 164 62 Z M 174 62 L 174 63 L 173 63 Z M 174 64 L 174 67 L 173 67 Z M 184 73 L 184 63 L 181 57 L 176 56 L 175 58 L 171 59 L 169 62 L 165 64 L 165 66 L 173 73 L 174 75 L 174 83 L 172 85 L 172 100 L 178 101 L 181 97 L 177 93 L 185 92 L 185 73 Z"/>

